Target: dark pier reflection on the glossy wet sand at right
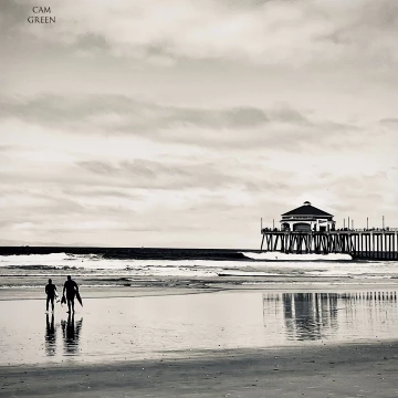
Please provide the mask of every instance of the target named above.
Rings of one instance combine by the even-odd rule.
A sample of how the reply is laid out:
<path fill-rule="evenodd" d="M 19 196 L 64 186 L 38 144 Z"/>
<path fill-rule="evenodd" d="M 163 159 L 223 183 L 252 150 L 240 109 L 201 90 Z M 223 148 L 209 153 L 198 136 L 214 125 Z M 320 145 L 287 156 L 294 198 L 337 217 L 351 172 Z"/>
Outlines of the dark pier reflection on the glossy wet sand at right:
<path fill-rule="evenodd" d="M 263 314 L 283 312 L 287 341 L 398 337 L 397 292 L 263 294 Z"/>

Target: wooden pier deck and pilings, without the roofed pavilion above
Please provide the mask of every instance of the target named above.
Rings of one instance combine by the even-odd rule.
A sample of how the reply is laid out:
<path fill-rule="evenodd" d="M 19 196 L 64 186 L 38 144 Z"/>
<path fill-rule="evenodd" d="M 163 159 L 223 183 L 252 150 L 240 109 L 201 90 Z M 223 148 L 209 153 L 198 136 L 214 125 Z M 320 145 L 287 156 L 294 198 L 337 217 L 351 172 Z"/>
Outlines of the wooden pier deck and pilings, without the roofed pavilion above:
<path fill-rule="evenodd" d="M 398 229 L 280 231 L 262 229 L 261 251 L 346 253 L 355 259 L 398 260 Z"/>

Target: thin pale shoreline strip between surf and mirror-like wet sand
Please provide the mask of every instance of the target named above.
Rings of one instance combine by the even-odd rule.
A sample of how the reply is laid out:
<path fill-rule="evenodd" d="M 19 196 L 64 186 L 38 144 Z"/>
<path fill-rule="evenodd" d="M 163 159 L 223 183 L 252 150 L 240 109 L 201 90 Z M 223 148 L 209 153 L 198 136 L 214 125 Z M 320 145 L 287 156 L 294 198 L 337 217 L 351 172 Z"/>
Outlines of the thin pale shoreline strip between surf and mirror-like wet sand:
<path fill-rule="evenodd" d="M 44 300 L 44 277 L 34 277 L 42 285 L 27 286 L 25 280 L 20 284 L 13 283 L 13 287 L 0 289 L 0 301 L 2 300 Z M 63 284 L 55 280 L 59 294 L 62 294 Z M 62 280 L 63 281 L 63 280 Z M 250 277 L 242 281 L 241 277 L 172 277 L 168 280 L 136 279 L 134 282 L 125 284 L 117 283 L 117 280 L 109 277 L 95 277 L 95 284 L 92 277 L 81 276 L 76 280 L 81 286 L 81 293 L 86 298 L 97 297 L 139 297 L 139 296 L 159 296 L 159 295 L 179 295 L 179 294 L 200 294 L 211 292 L 344 292 L 344 291 L 386 291 L 398 289 L 398 279 L 358 279 L 347 281 L 336 277 L 292 277 L 285 281 L 281 277 Z M 108 282 L 115 282 L 108 284 Z M 63 281 L 64 282 L 64 281 Z"/>

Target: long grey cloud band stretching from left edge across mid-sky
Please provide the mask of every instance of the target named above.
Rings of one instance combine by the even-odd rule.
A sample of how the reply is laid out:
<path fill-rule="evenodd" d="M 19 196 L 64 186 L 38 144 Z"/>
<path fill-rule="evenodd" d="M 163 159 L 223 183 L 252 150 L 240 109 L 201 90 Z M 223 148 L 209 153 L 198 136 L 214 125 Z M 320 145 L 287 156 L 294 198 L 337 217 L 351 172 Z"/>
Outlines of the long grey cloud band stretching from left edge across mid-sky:
<path fill-rule="evenodd" d="M 196 147 L 229 147 L 287 151 L 339 147 L 357 139 L 358 128 L 328 121 L 311 121 L 289 104 L 262 109 L 252 106 L 199 108 L 146 103 L 121 95 L 2 98 L 0 121 L 17 119 L 29 125 L 71 135 L 125 135 L 157 144 Z"/>

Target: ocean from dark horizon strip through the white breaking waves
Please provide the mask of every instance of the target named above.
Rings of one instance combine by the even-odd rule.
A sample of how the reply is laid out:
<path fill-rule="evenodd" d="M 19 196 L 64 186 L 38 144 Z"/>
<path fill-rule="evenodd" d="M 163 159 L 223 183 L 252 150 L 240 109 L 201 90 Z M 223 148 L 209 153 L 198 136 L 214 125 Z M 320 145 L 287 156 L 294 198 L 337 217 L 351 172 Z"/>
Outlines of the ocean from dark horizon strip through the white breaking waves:
<path fill-rule="evenodd" d="M 0 248 L 0 289 L 39 287 L 66 275 L 84 285 L 134 285 L 172 281 L 255 284 L 394 282 L 397 261 L 355 261 L 347 254 L 283 254 L 243 250 Z"/>

